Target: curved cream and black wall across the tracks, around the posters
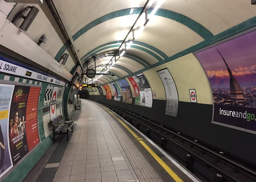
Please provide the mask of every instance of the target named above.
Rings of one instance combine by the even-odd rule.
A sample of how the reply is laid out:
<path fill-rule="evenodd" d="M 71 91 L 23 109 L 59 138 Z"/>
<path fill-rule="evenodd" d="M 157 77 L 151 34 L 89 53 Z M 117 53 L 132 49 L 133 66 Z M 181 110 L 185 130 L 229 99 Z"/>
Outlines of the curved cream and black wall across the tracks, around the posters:
<path fill-rule="evenodd" d="M 157 72 L 166 68 L 172 75 L 177 88 L 177 117 L 167 115 L 165 112 L 167 96 L 164 84 Z M 107 93 L 109 91 L 105 90 L 103 86 L 100 86 L 100 92 L 98 89 L 88 89 L 89 99 L 113 104 L 146 116 L 148 119 L 163 124 L 166 128 L 179 131 L 219 151 L 256 164 L 256 146 L 252 145 L 256 140 L 255 134 L 212 123 L 214 101 L 211 85 L 204 68 L 194 54 L 191 53 L 161 66 L 151 68 L 144 71 L 143 74 L 146 76 L 151 90 L 155 93 L 156 99 L 152 101 L 152 108 L 135 104 L 134 93 L 136 90 L 134 90 L 128 78 L 126 80 L 133 93 L 132 102 L 122 101 L 125 92 L 123 92 L 120 101 L 114 100 L 115 96 L 109 99 L 109 93 Z M 119 86 L 121 84 L 119 81 L 113 83 Z M 120 87 L 120 90 L 125 90 L 123 86 Z M 191 102 L 191 89 L 196 92 L 196 103 Z M 114 92 L 113 89 L 111 92 Z M 125 97 L 127 97 L 127 94 Z"/>

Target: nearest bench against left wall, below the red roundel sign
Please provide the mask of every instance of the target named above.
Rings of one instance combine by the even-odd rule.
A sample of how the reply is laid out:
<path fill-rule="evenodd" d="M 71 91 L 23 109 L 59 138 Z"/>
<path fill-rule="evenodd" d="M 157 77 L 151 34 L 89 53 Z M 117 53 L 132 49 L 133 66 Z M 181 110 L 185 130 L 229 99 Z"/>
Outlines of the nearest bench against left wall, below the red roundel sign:
<path fill-rule="evenodd" d="M 67 134 L 68 141 L 68 131 L 71 129 L 71 132 L 73 132 L 73 118 L 63 118 L 63 116 L 60 114 L 53 120 L 50 120 L 50 122 L 53 124 L 53 141 L 55 141 L 55 135 L 63 134 Z"/>

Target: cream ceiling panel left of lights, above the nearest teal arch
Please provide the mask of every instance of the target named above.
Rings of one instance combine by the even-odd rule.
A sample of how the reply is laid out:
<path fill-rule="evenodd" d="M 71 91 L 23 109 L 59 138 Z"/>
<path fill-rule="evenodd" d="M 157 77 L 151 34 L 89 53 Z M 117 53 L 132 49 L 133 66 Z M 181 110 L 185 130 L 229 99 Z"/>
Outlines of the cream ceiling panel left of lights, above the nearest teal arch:
<path fill-rule="evenodd" d="M 69 26 L 69 30 L 74 35 L 99 17 L 121 9 L 143 7 L 146 0 L 53 0 L 53 2 L 60 7 L 65 21 L 72 25 Z"/>

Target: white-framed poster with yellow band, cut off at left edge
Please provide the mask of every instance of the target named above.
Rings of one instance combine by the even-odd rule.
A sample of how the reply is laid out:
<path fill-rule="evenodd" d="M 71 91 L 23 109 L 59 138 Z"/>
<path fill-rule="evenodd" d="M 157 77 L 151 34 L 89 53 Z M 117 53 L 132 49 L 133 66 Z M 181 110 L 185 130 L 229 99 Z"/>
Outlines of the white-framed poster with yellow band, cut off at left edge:
<path fill-rule="evenodd" d="M 11 152 L 8 142 L 8 120 L 13 90 L 14 85 L 0 84 L 0 178 L 12 168 Z M 9 135 L 11 135 L 10 132 Z"/>

